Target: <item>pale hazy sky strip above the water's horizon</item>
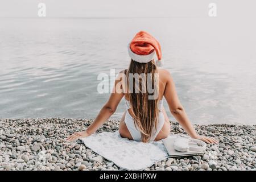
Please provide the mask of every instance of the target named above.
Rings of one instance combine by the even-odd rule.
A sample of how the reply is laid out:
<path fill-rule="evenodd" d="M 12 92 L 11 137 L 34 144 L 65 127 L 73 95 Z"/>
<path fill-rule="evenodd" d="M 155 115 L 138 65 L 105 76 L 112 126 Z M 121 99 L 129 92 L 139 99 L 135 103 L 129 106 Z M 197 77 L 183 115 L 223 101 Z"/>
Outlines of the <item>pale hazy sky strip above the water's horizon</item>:
<path fill-rule="evenodd" d="M 1 0 L 0 17 L 37 17 L 39 2 L 46 3 L 48 18 L 207 18 L 211 2 L 218 16 L 255 17 L 256 5 L 254 0 Z"/>

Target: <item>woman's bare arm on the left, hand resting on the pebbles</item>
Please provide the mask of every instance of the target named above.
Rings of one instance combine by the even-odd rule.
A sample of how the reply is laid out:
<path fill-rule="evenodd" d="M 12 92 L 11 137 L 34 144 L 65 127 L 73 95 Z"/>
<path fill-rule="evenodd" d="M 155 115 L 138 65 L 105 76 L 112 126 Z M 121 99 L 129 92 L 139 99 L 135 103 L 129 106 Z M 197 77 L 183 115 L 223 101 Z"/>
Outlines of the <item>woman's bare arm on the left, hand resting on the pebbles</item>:
<path fill-rule="evenodd" d="M 101 127 L 104 124 L 104 122 L 106 122 L 110 118 L 110 116 L 117 109 L 117 106 L 124 95 L 121 92 L 122 88 L 118 88 L 120 82 L 120 80 L 115 80 L 114 88 L 112 90 L 112 94 L 110 95 L 108 102 L 106 102 L 106 104 L 102 107 L 100 113 L 97 115 L 96 119 L 94 119 L 93 123 L 88 127 L 88 129 L 86 131 L 80 131 L 70 135 L 67 138 L 68 142 L 71 142 L 79 138 L 88 137 L 89 135 L 97 131 L 98 128 Z"/>

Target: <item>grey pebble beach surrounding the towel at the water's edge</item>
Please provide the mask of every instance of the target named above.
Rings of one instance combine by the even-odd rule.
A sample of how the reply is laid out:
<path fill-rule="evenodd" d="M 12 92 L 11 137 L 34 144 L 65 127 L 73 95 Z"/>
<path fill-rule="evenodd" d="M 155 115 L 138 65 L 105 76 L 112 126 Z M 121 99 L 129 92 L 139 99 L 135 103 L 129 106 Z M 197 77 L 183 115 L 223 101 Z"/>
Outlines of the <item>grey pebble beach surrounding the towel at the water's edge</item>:
<path fill-rule="evenodd" d="M 93 119 L 0 119 L 0 171 L 3 170 L 122 170 L 80 141 L 65 138 L 85 130 Z M 171 134 L 185 134 L 177 122 Z M 118 130 L 109 120 L 97 132 Z M 197 133 L 215 137 L 201 156 L 167 158 L 144 170 L 227 171 L 256 169 L 256 125 L 195 125 Z"/>

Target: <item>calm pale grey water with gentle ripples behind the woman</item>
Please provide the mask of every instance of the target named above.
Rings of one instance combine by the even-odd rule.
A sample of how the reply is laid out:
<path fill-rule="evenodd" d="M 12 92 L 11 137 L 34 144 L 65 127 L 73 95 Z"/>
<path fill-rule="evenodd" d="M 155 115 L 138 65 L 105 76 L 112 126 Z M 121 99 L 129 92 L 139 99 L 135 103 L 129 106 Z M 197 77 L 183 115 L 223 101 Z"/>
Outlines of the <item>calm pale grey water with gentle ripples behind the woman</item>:
<path fill-rule="evenodd" d="M 109 97 L 97 92 L 98 74 L 127 68 L 127 43 L 146 30 L 162 44 L 164 68 L 193 123 L 256 123 L 256 30 L 249 20 L 0 23 L 0 118 L 95 118 Z M 124 109 L 122 101 L 112 118 Z"/>

